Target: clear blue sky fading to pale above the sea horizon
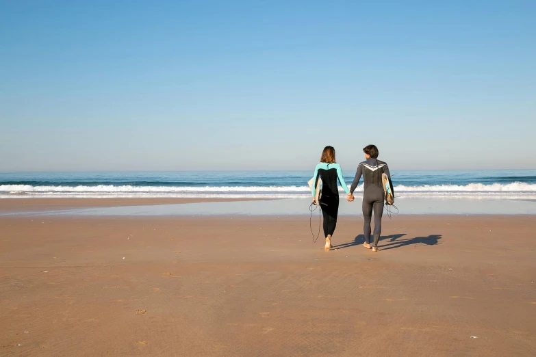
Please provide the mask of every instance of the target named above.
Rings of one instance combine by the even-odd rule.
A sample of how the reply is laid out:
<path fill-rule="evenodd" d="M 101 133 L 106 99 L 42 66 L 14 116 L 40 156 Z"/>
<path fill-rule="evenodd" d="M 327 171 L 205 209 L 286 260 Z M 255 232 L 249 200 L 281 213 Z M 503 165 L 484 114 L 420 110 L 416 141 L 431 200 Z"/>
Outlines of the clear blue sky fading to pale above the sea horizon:
<path fill-rule="evenodd" d="M 0 0 L 0 171 L 536 168 L 536 1 Z"/>

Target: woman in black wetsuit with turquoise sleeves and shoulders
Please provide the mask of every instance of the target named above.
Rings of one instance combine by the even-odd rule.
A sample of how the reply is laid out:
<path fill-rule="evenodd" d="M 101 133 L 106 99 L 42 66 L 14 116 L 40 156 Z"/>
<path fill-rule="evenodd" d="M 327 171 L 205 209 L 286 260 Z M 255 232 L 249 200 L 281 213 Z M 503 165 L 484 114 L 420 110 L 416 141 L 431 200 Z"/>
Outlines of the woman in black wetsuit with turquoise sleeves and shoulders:
<path fill-rule="evenodd" d="M 331 237 L 337 225 L 337 213 L 339 212 L 339 189 L 337 189 L 337 178 L 339 183 L 348 194 L 351 196 L 348 186 L 342 177 L 341 167 L 335 162 L 335 149 L 333 146 L 326 146 L 322 151 L 320 163 L 314 170 L 314 184 L 311 188 L 313 194 L 313 202 L 316 196 L 316 184 L 318 178 L 322 179 L 322 197 L 320 198 L 320 209 L 324 216 L 324 236 L 326 237 L 326 246 L 324 250 L 329 250 L 331 246 Z"/>

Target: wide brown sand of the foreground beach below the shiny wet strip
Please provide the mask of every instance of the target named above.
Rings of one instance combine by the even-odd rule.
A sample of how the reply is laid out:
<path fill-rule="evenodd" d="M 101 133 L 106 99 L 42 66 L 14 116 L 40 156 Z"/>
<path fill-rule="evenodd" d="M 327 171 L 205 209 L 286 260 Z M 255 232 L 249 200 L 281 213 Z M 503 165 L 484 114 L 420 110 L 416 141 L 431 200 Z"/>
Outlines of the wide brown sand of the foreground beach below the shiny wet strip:
<path fill-rule="evenodd" d="M 536 355 L 536 217 L 361 224 L 2 217 L 0 355 Z"/>

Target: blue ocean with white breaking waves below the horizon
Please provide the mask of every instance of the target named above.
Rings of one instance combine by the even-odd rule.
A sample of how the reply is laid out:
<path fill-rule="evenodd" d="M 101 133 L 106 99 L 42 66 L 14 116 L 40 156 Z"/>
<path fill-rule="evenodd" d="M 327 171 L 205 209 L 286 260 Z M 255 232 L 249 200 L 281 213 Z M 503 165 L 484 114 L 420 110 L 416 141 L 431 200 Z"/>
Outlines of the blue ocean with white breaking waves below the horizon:
<path fill-rule="evenodd" d="M 312 174 L 312 170 L 0 172 L 0 198 L 306 198 Z M 536 199 L 536 170 L 392 170 L 391 174 L 398 197 Z M 343 175 L 351 185 L 355 172 Z M 356 194 L 362 191 L 361 179 Z"/>

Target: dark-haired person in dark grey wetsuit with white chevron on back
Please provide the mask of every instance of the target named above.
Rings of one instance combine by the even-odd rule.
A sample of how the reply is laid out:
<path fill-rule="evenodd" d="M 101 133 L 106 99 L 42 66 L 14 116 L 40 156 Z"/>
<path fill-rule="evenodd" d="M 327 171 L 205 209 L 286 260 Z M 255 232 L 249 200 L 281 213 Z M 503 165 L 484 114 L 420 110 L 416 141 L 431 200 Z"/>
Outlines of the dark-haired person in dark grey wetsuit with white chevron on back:
<path fill-rule="evenodd" d="M 372 251 L 378 251 L 378 241 L 381 235 L 381 216 L 383 214 L 383 185 L 381 184 L 381 174 L 385 173 L 391 179 L 389 167 L 387 163 L 378 160 L 378 148 L 375 145 L 368 145 L 363 148 L 365 153 L 365 161 L 359 163 L 357 172 L 355 173 L 354 182 L 350 187 L 350 195 L 348 201 L 353 200 L 353 193 L 359 179 L 363 176 L 363 218 L 365 224 L 363 227 L 365 233 L 365 243 L 363 246 L 370 249 L 370 221 L 372 212 L 374 211 L 374 243 L 372 243 Z"/>

